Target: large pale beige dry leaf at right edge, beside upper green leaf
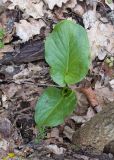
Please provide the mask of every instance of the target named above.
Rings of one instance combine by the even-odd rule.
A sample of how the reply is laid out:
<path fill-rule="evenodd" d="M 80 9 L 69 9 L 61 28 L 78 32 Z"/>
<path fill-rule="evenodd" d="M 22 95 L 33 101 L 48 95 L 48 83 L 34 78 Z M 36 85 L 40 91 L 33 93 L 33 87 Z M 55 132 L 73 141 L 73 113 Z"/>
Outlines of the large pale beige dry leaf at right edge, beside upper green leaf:
<path fill-rule="evenodd" d="M 92 56 L 98 56 L 102 49 L 107 55 L 114 55 L 114 27 L 111 24 L 103 24 L 96 21 L 94 26 L 88 30 Z"/>

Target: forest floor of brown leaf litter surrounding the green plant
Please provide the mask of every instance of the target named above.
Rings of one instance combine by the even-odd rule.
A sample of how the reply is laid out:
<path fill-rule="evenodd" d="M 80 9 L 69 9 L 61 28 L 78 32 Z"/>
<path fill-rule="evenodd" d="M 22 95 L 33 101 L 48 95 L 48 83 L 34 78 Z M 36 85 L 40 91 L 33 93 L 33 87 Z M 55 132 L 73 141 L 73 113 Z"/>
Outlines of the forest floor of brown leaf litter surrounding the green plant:
<path fill-rule="evenodd" d="M 44 88 L 56 86 L 44 59 L 44 40 L 55 24 L 70 19 L 85 27 L 91 45 L 86 78 L 71 86 L 78 105 L 63 125 L 38 135 L 34 108 Z M 114 102 L 114 4 L 97 0 L 0 0 L 0 160 L 113 160 L 72 143 L 72 134 Z M 104 146 L 105 147 L 105 146 Z M 104 151 L 105 152 L 105 151 Z"/>

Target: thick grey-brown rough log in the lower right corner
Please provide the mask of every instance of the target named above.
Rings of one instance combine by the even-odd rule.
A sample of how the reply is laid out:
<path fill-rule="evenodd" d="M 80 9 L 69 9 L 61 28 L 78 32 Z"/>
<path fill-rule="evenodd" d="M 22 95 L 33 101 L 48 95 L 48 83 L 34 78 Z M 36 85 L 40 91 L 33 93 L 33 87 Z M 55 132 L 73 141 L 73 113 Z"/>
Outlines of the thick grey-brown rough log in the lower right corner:
<path fill-rule="evenodd" d="M 76 145 L 92 146 L 99 151 L 114 140 L 114 102 L 105 106 L 90 121 L 77 130 L 72 138 Z"/>

